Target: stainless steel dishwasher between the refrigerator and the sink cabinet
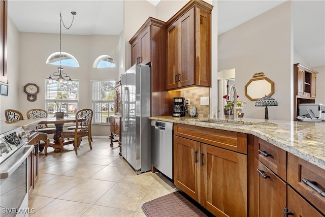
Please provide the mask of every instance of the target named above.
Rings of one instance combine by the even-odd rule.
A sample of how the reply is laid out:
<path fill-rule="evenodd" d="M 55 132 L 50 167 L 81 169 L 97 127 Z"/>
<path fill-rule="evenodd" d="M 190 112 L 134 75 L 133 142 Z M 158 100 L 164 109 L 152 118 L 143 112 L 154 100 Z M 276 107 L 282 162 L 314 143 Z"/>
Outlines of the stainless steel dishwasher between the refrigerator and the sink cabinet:
<path fill-rule="evenodd" d="M 173 123 L 151 120 L 151 164 L 173 179 Z"/>

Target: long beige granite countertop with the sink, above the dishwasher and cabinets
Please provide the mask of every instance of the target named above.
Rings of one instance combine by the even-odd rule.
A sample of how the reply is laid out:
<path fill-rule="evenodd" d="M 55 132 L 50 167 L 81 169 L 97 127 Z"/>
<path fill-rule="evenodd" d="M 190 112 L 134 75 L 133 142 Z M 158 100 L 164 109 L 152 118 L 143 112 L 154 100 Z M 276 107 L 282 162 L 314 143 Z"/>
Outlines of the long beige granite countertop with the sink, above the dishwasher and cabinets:
<path fill-rule="evenodd" d="M 157 116 L 149 117 L 153 120 L 183 123 L 219 130 L 248 133 L 275 146 L 286 150 L 325 169 L 325 122 L 301 122 L 285 120 L 265 120 L 253 118 L 240 118 L 241 120 L 215 119 L 223 123 L 204 122 L 213 120 L 208 118 Z M 231 125 L 240 123 L 242 125 Z"/>

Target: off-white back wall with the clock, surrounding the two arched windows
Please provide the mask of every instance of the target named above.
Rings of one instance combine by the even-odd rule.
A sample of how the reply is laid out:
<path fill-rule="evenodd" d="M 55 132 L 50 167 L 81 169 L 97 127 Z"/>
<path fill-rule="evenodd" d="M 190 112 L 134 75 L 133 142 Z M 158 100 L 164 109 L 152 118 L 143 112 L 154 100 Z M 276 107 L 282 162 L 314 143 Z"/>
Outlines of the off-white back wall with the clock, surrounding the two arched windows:
<path fill-rule="evenodd" d="M 20 33 L 19 40 L 19 78 L 15 96 L 19 102 L 18 110 L 25 116 L 31 108 L 45 108 L 45 78 L 57 72 L 57 66 L 46 64 L 46 59 L 52 53 L 59 51 L 58 34 Z M 78 60 L 79 68 L 63 67 L 63 72 L 72 79 L 79 80 L 79 109 L 92 108 L 91 81 L 118 78 L 118 68 L 92 68 L 96 57 L 108 54 L 116 63 L 119 60 L 119 36 L 106 35 L 62 35 L 61 51 L 72 54 Z M 82 45 L 82 46 L 81 46 Z M 11 50 L 8 49 L 8 50 Z M 9 58 L 8 59 L 12 59 Z M 37 101 L 27 101 L 23 86 L 36 83 L 40 87 Z M 13 107 L 12 107 L 13 108 Z M 2 112 L 3 113 L 3 112 Z M 108 135 L 109 126 L 101 126 Z M 93 135 L 102 135 L 94 126 Z"/>

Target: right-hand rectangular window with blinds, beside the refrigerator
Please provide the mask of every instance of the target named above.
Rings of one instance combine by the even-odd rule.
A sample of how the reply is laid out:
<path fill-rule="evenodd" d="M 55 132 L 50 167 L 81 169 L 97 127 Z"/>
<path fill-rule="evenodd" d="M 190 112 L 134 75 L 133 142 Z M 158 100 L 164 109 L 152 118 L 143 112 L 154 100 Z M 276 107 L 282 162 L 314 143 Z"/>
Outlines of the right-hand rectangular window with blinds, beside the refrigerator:
<path fill-rule="evenodd" d="M 92 82 L 93 123 L 108 125 L 110 115 L 115 113 L 114 106 L 115 80 Z"/>

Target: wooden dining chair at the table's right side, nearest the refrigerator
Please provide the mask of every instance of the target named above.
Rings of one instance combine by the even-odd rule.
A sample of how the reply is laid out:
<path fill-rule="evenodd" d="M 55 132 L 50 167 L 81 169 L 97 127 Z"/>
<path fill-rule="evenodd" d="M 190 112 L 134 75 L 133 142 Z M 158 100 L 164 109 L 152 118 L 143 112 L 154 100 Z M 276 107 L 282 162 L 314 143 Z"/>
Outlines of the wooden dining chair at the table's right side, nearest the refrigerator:
<path fill-rule="evenodd" d="M 63 151 L 63 145 L 74 144 L 76 154 L 78 154 L 78 147 L 81 142 L 81 138 L 84 136 L 88 137 L 88 143 L 90 149 L 91 147 L 91 119 L 92 119 L 93 111 L 91 109 L 81 109 L 76 113 L 76 128 L 74 130 L 62 131 L 61 136 L 59 138 L 59 142 L 61 145 L 61 150 Z M 70 140 L 64 142 L 64 138 L 74 138 L 74 140 Z"/>

